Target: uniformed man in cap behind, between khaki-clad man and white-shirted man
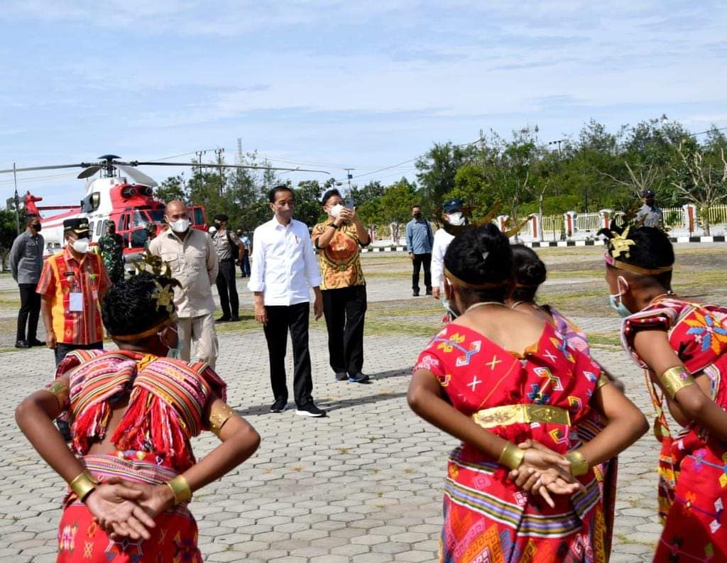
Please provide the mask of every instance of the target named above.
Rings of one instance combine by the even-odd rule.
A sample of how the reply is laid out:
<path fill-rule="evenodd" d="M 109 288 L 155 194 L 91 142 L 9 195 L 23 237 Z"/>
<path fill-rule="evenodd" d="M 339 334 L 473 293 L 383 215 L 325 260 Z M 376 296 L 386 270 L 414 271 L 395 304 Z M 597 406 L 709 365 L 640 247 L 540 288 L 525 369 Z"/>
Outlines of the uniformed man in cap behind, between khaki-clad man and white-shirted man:
<path fill-rule="evenodd" d="M 222 316 L 215 322 L 237 322 L 240 320 L 240 300 L 235 284 L 235 263 L 242 260 L 245 247 L 235 233 L 227 228 L 228 216 L 224 213 L 215 215 L 214 226 L 217 228 L 212 236 L 220 270 L 217 272 L 217 293 L 220 294 Z"/>

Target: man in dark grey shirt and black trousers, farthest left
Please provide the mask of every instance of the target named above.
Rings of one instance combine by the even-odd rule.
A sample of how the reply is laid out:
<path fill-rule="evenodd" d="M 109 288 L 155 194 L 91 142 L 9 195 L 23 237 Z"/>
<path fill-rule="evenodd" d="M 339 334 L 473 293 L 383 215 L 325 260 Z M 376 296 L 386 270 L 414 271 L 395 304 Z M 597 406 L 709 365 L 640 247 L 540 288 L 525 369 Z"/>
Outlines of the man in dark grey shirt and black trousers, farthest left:
<path fill-rule="evenodd" d="M 25 217 L 25 231 L 17 236 L 10 249 L 10 272 L 20 290 L 15 348 L 45 346 L 36 338 L 41 313 L 41 296 L 36 293 L 36 285 L 43 268 L 44 247 L 40 231 L 38 215 L 28 215 Z M 28 338 L 25 338 L 25 324 L 28 325 Z"/>

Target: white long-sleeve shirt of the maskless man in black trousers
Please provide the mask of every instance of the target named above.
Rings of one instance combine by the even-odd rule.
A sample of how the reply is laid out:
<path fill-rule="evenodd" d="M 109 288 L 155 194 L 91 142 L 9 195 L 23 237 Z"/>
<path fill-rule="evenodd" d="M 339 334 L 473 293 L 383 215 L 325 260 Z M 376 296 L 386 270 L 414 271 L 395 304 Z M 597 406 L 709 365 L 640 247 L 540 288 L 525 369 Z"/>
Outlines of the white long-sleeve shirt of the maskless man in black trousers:
<path fill-rule="evenodd" d="M 283 225 L 273 217 L 255 229 L 252 239 L 248 289 L 262 292 L 266 306 L 309 302 L 309 287 L 321 285 L 321 271 L 305 223 L 292 219 Z"/>

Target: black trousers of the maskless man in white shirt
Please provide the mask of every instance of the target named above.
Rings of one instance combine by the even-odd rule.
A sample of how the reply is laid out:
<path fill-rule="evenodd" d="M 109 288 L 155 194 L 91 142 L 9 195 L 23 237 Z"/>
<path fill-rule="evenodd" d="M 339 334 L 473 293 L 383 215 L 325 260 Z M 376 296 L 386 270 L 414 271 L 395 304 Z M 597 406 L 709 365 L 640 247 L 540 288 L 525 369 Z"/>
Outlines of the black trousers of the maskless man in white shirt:
<path fill-rule="evenodd" d="M 289 306 L 267 306 L 268 323 L 265 324 L 265 340 L 268 340 L 270 359 L 270 385 L 275 400 L 288 400 L 286 386 L 285 354 L 288 331 L 293 341 L 293 394 L 295 404 L 302 407 L 313 401 L 313 376 L 308 351 L 308 315 L 310 303 Z"/>

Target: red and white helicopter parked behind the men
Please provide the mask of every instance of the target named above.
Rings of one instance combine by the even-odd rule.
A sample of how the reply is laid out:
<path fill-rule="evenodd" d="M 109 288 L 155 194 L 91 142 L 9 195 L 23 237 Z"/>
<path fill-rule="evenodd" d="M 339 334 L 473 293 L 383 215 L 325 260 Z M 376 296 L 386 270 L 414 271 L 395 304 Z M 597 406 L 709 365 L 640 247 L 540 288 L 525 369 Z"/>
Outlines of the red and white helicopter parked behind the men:
<path fill-rule="evenodd" d="M 174 166 L 174 167 L 205 167 L 205 168 L 244 168 L 262 170 L 283 170 L 288 172 L 316 172 L 329 174 L 324 170 L 308 170 L 300 168 L 278 168 L 241 164 L 200 164 L 198 162 L 140 162 L 120 161 L 119 156 L 106 154 L 99 157 L 96 164 L 80 162 L 79 164 L 55 164 L 28 168 L 11 168 L 4 172 L 29 172 L 31 170 L 52 170 L 63 168 L 84 168 L 78 177 L 86 179 L 86 195 L 78 205 L 36 205 L 43 198 L 34 196 L 30 191 L 25 193 L 25 212 L 35 213 L 41 217 L 43 237 L 46 248 L 44 254 L 50 255 L 63 247 L 63 220 L 72 217 L 87 217 L 91 230 L 92 244 L 96 243 L 105 233 L 109 221 L 116 224 L 116 232 L 124 239 L 124 257 L 129 263 L 133 257 L 142 252 L 145 242 L 150 236 L 148 225 L 156 225 L 156 232 L 164 227 L 164 201 L 154 197 L 153 188 L 158 184 L 153 178 L 145 175 L 138 166 Z M 97 172 L 100 177 L 92 179 Z M 191 204 L 188 206 L 190 223 L 193 228 L 207 230 L 207 217 L 204 207 Z M 64 210 L 56 215 L 42 217 L 41 211 Z"/>

